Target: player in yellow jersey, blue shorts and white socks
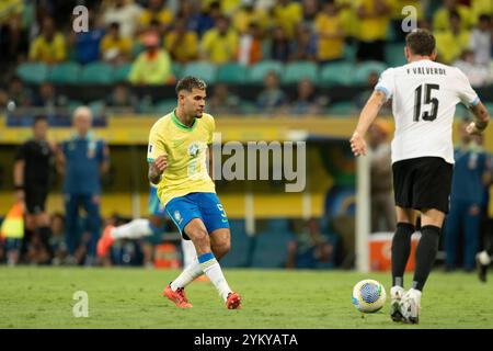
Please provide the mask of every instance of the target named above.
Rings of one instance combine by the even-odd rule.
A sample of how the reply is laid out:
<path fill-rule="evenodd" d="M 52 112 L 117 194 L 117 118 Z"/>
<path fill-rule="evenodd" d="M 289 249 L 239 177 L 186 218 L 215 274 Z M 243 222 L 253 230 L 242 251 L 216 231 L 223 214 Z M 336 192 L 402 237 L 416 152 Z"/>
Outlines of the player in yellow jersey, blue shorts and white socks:
<path fill-rule="evenodd" d="M 228 217 L 216 195 L 211 173 L 215 122 L 204 113 L 206 83 L 185 77 L 176 84 L 177 107 L 160 118 L 149 134 L 149 180 L 197 260 L 171 282 L 163 294 L 177 307 L 192 307 L 184 287 L 205 273 L 229 309 L 241 308 L 240 295 L 226 282 L 218 260 L 230 248 Z M 207 171 L 209 156 L 209 172 Z"/>

